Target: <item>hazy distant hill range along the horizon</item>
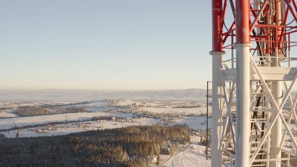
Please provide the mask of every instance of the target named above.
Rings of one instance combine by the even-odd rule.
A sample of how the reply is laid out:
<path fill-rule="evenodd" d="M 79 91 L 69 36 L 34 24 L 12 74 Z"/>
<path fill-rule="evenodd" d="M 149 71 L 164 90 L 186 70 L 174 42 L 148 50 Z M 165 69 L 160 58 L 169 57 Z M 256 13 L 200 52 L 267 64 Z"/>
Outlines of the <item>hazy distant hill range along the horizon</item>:
<path fill-rule="evenodd" d="M 92 101 L 101 99 L 205 101 L 206 90 L 98 91 L 98 90 L 0 90 L 1 101 Z"/>

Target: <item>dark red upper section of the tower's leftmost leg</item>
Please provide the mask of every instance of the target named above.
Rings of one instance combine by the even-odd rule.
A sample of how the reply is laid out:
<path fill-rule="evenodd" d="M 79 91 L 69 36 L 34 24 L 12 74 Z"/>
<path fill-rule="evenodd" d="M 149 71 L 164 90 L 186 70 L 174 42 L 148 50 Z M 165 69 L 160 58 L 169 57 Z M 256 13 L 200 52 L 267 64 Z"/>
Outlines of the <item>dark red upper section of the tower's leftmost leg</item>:
<path fill-rule="evenodd" d="M 222 40 L 220 34 L 220 25 L 222 17 L 222 0 L 211 1 L 212 10 L 212 51 L 222 51 Z"/>

